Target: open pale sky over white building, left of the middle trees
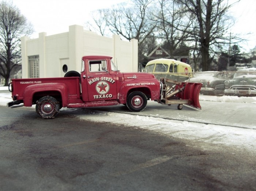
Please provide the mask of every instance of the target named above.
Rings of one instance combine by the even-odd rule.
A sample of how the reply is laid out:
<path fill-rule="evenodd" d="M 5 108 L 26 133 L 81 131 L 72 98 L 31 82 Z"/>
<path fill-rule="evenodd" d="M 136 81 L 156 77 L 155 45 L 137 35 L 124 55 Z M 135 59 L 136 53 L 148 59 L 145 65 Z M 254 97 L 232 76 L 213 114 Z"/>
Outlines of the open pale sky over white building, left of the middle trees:
<path fill-rule="evenodd" d="M 35 33 L 47 35 L 64 33 L 70 25 L 84 24 L 91 19 L 91 12 L 110 8 L 125 0 L 13 0 L 20 12 L 33 24 Z"/>

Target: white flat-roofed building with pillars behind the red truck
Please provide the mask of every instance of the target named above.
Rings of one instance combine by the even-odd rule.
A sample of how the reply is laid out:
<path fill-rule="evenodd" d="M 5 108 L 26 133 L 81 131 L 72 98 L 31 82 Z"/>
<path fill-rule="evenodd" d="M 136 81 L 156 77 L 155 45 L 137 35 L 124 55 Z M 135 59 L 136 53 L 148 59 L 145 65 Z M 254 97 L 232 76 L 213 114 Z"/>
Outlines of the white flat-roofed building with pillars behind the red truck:
<path fill-rule="evenodd" d="M 83 26 L 69 26 L 66 33 L 39 38 L 21 38 L 22 78 L 63 77 L 65 72 L 80 72 L 82 56 L 111 56 L 121 72 L 138 71 L 138 40 L 122 41 L 119 35 L 103 37 Z"/>

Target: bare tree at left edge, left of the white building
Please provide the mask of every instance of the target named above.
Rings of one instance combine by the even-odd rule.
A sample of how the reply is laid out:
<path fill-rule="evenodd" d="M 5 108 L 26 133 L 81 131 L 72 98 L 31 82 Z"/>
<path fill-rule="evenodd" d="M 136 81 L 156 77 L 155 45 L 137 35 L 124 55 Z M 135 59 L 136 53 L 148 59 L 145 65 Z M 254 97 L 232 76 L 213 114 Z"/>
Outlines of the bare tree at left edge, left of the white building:
<path fill-rule="evenodd" d="M 32 31 L 16 6 L 7 1 L 0 2 L 0 75 L 5 79 L 5 86 L 12 70 L 21 63 L 20 37 Z"/>

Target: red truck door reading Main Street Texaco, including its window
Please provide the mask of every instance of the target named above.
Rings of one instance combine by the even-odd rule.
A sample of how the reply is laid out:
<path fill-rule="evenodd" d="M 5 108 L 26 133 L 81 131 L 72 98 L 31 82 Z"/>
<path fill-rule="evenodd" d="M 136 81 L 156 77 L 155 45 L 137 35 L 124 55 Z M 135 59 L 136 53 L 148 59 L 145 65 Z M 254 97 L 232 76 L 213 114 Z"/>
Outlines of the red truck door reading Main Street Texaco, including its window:
<path fill-rule="evenodd" d="M 116 75 L 110 75 L 105 59 L 89 60 L 86 70 L 90 102 L 117 99 Z"/>

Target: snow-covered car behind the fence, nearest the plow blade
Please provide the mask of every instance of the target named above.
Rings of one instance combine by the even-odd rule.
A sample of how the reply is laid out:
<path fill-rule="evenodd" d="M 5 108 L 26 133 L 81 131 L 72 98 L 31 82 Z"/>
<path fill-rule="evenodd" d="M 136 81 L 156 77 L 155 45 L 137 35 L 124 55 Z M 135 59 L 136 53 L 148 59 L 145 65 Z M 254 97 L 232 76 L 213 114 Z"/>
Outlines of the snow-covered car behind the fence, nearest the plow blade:
<path fill-rule="evenodd" d="M 225 81 L 232 79 L 233 73 L 230 72 L 198 72 L 194 77 L 187 80 L 191 83 L 202 83 L 200 93 L 203 95 L 224 95 Z"/>

